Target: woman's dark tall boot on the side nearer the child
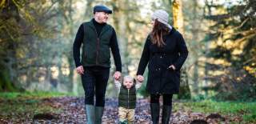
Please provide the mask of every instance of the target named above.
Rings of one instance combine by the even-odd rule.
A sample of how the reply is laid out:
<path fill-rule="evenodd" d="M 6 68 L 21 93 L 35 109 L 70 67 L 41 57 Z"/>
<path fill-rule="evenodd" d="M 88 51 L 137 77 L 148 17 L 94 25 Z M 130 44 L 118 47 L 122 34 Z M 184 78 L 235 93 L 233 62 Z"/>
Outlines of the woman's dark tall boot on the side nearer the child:
<path fill-rule="evenodd" d="M 151 119 L 153 124 L 158 124 L 159 122 L 159 113 L 160 105 L 159 103 L 150 103 Z"/>

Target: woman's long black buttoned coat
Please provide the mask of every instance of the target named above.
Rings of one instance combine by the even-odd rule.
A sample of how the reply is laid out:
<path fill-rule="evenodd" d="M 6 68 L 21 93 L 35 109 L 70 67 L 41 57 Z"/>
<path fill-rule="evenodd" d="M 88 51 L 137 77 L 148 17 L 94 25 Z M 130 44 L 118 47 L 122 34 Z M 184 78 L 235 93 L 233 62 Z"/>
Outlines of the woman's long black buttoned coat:
<path fill-rule="evenodd" d="M 163 36 L 166 45 L 158 47 L 146 38 L 137 75 L 142 75 L 148 64 L 149 74 L 146 90 L 150 94 L 178 94 L 180 69 L 185 62 L 188 50 L 182 34 L 174 28 Z M 176 70 L 167 69 L 174 65 Z"/>

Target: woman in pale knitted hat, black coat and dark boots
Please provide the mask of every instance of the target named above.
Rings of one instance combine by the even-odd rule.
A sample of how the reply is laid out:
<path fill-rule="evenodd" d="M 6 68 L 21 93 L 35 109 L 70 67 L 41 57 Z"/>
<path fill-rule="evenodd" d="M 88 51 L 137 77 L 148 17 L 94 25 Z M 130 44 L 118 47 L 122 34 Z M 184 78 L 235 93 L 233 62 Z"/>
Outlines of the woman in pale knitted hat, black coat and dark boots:
<path fill-rule="evenodd" d="M 172 96 L 178 94 L 180 69 L 188 50 L 182 34 L 168 24 L 169 14 L 156 10 L 152 15 L 153 30 L 146 38 L 142 58 L 138 65 L 137 79 L 144 80 L 148 64 L 146 90 L 150 93 L 150 111 L 154 124 L 159 120 L 159 97 L 163 97 L 162 123 L 168 124 L 172 109 Z"/>

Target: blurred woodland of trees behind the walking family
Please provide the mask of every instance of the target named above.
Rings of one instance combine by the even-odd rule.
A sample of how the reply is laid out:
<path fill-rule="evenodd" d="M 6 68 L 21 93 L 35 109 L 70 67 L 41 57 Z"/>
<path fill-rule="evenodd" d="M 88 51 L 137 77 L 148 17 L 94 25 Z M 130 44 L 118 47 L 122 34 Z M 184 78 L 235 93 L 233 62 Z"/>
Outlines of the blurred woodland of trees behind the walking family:
<path fill-rule="evenodd" d="M 33 93 L 82 97 L 72 46 L 78 26 L 90 21 L 98 4 L 114 11 L 108 23 L 118 34 L 123 75 L 135 77 L 151 29 L 150 15 L 163 9 L 190 51 L 182 68 L 181 92 L 174 99 L 255 104 L 255 0 L 1 0 L 2 99 Z M 117 97 L 111 75 L 106 98 Z M 145 86 L 139 98 L 147 98 Z M 248 113 L 250 122 L 256 114 Z"/>

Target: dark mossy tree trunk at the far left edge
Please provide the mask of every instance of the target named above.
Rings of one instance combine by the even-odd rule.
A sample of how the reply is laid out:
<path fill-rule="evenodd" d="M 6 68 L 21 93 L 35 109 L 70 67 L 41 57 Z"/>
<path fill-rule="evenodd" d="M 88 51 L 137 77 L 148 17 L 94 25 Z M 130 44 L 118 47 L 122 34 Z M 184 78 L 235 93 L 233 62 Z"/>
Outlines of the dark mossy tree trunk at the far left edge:
<path fill-rule="evenodd" d="M 20 20 L 18 14 L 18 7 L 12 0 L 6 0 L 1 2 L 0 6 L 0 22 L 7 26 L 0 26 L 0 34 L 4 32 L 5 35 L 0 36 L 0 41 L 3 41 L 0 54 L 2 54 L 2 60 L 0 60 L 1 72 L 0 72 L 0 91 L 16 91 L 18 90 L 17 81 L 17 58 L 16 48 L 18 47 L 18 30 L 14 30 L 12 27 L 8 27 L 10 23 L 18 25 Z M 3 27 L 3 28 L 2 28 Z M 8 32 L 8 33 L 6 33 Z"/>

